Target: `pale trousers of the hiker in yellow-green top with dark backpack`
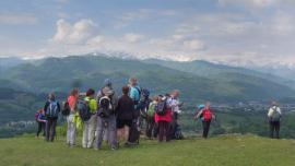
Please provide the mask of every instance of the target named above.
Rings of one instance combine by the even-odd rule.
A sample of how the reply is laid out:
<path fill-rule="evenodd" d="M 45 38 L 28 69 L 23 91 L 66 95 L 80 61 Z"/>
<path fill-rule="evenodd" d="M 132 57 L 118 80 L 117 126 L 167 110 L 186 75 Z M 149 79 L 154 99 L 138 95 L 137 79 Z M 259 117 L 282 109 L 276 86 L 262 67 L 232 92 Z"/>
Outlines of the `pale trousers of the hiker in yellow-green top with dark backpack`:
<path fill-rule="evenodd" d="M 92 115 L 88 121 L 84 122 L 82 146 L 91 149 L 95 139 L 95 130 L 97 127 L 97 115 Z"/>

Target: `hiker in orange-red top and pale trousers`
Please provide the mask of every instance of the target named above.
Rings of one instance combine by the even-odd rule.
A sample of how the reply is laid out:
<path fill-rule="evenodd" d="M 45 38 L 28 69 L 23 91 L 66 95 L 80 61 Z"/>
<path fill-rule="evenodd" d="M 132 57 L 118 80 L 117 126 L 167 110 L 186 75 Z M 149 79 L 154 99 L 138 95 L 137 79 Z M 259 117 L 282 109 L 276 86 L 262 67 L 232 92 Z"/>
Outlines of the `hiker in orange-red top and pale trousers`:
<path fill-rule="evenodd" d="M 73 147 L 75 145 L 76 124 L 74 119 L 78 112 L 76 110 L 78 99 L 79 99 L 79 90 L 73 88 L 67 99 L 67 103 L 70 108 L 69 116 L 67 117 L 68 122 L 67 144 L 69 145 L 69 147 Z"/>

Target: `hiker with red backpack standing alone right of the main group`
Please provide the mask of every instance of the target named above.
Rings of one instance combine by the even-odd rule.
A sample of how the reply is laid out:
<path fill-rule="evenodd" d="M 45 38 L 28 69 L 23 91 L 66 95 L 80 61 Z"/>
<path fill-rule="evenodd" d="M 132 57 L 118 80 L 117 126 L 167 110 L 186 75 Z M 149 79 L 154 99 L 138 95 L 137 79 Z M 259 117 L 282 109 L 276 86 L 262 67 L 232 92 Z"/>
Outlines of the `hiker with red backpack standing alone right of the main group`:
<path fill-rule="evenodd" d="M 215 119 L 215 114 L 210 107 L 210 103 L 208 102 L 205 106 L 200 106 L 199 107 L 199 112 L 197 116 L 194 116 L 194 119 L 201 119 L 202 120 L 202 126 L 203 126 L 203 138 L 206 139 L 210 130 L 210 124 L 212 119 Z"/>

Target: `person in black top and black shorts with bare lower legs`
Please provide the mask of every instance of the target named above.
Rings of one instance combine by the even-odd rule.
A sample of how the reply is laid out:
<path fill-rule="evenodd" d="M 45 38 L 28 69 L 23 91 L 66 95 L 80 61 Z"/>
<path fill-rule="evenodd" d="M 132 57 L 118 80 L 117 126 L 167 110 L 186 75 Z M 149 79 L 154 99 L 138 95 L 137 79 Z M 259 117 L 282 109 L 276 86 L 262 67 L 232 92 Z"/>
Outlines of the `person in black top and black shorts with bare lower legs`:
<path fill-rule="evenodd" d="M 117 107 L 117 129 L 118 129 L 118 143 L 125 142 L 128 145 L 129 130 L 132 127 L 134 119 L 134 103 L 129 97 L 130 87 L 122 87 L 122 96 L 119 98 Z"/>

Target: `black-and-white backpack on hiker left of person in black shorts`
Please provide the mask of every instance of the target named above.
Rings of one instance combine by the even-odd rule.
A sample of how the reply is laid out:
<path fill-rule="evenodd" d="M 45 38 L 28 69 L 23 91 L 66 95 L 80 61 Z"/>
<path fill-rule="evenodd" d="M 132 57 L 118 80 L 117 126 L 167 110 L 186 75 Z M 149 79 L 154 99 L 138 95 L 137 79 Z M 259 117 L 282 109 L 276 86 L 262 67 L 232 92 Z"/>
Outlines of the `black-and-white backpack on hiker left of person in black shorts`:
<path fill-rule="evenodd" d="M 114 108 L 111 99 L 108 96 L 104 96 L 99 99 L 98 116 L 102 118 L 107 118 L 114 114 Z"/>

